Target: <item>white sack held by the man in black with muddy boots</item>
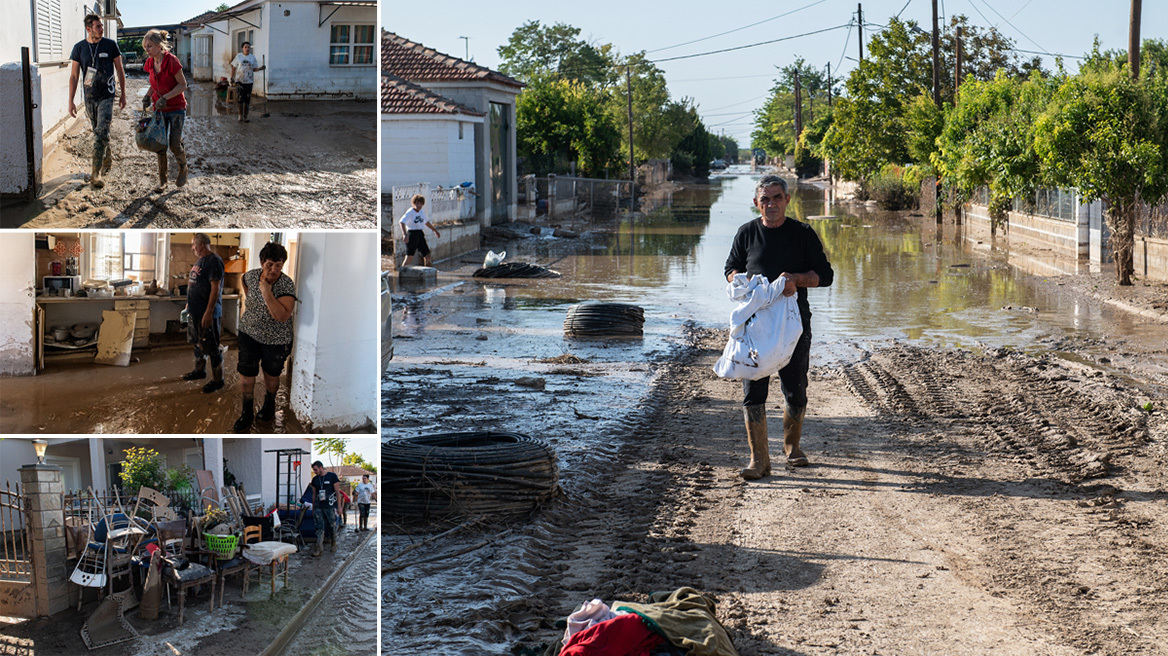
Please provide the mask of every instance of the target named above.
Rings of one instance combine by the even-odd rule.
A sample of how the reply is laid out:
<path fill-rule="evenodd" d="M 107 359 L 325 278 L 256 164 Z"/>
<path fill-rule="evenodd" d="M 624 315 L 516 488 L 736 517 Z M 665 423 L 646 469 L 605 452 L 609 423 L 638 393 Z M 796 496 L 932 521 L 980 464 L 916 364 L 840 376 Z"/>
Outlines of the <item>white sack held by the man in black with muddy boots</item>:
<path fill-rule="evenodd" d="M 726 285 L 730 300 L 730 339 L 714 372 L 731 381 L 758 381 L 773 376 L 791 362 L 802 335 L 802 319 L 794 295 L 784 296 L 787 279 L 771 282 L 764 275 L 748 280 L 737 273 Z"/>

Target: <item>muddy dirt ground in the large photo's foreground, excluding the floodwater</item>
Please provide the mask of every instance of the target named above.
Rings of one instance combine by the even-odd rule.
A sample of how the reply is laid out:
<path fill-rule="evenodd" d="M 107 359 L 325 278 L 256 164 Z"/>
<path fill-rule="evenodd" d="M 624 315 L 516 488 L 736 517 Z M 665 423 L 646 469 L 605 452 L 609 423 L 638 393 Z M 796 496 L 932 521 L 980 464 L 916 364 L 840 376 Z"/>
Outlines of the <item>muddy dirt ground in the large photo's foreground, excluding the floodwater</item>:
<path fill-rule="evenodd" d="M 1163 312 L 1164 286 L 1117 288 L 1108 273 L 1044 284 Z M 514 654 L 557 641 L 554 622 L 584 601 L 681 586 L 717 599 L 744 656 L 1168 654 L 1168 396 L 1141 364 L 1163 346 L 1138 342 L 1076 336 L 1035 354 L 816 341 L 850 355 L 813 358 L 813 465 L 778 458 L 748 483 L 741 386 L 711 371 L 725 333 L 690 324 L 648 358 L 635 407 L 568 407 L 563 435 L 541 433 L 592 432 L 588 449 L 557 446 L 564 498 L 419 549 L 458 521 L 387 526 L 383 654 Z M 572 397 L 554 383 L 603 379 L 603 360 L 533 363 L 548 390 L 522 390 L 519 413 L 565 416 Z M 544 370 L 556 367 L 570 372 Z M 467 413 L 472 392 L 436 381 L 419 395 Z M 481 427 L 517 430 L 491 424 L 512 416 L 492 398 Z M 776 384 L 772 455 L 777 398 Z"/>

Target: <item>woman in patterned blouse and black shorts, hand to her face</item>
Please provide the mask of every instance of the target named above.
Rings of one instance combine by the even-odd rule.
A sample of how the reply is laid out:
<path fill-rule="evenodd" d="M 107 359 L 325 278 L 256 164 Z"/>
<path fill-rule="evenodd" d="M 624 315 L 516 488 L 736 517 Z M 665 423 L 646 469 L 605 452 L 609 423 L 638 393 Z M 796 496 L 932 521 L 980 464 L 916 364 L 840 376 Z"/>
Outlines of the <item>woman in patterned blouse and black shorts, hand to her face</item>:
<path fill-rule="evenodd" d="M 280 372 L 292 353 L 292 309 L 296 284 L 284 273 L 288 252 L 276 243 L 259 250 L 259 268 L 243 274 L 243 315 L 239 317 L 239 393 L 242 412 L 232 428 L 245 433 L 253 419 L 276 417 L 276 392 Z M 255 412 L 256 377 L 264 370 L 264 405 Z"/>

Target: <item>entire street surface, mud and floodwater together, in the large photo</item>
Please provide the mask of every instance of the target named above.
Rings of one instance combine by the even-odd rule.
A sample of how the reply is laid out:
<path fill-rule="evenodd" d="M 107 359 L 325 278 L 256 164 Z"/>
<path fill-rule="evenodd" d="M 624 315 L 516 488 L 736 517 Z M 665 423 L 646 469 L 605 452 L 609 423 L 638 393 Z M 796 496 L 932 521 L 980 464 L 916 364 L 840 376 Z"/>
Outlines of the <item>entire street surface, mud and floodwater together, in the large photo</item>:
<path fill-rule="evenodd" d="M 821 222 L 837 278 L 812 299 L 813 465 L 777 461 L 746 483 L 741 386 L 711 371 L 721 315 L 669 308 L 707 296 L 703 282 L 633 295 L 660 271 L 719 267 L 718 216 L 672 267 L 592 246 L 578 263 L 541 256 L 565 273 L 556 287 L 452 271 L 404 294 L 383 435 L 527 432 L 555 446 L 565 496 L 422 550 L 406 551 L 437 528 L 388 525 L 384 654 L 515 654 L 557 641 L 554 622 L 584 601 L 681 586 L 717 598 L 743 656 L 1168 654 L 1162 324 L 1085 293 L 1086 274 L 1011 273 L 1013 254 L 903 217 Z M 642 235 L 687 238 L 679 223 Z M 599 285 L 606 257 L 640 275 Z M 605 293 L 673 339 L 647 322 L 642 343 L 561 341 L 563 307 Z"/>

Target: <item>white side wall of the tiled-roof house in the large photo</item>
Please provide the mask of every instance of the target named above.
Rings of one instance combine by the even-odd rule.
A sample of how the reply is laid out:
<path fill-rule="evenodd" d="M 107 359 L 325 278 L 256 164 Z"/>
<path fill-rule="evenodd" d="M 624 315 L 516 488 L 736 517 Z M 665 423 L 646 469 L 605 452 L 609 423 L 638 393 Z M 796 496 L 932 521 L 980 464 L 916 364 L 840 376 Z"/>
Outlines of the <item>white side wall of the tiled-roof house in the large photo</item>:
<path fill-rule="evenodd" d="M 474 182 L 475 123 L 427 118 L 433 114 L 382 114 L 381 189 L 429 182 L 454 187 Z M 459 126 L 463 138 L 459 139 Z"/>

